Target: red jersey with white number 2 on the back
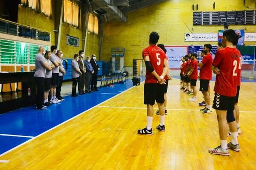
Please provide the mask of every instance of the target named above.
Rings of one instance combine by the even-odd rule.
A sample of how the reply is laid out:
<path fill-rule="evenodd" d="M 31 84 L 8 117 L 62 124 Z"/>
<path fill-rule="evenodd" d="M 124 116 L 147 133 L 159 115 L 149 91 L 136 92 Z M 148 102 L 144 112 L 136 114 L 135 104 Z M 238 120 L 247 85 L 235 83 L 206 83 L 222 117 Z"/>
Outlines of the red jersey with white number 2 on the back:
<path fill-rule="evenodd" d="M 220 69 L 220 74 L 216 75 L 215 93 L 236 96 L 240 57 L 241 53 L 236 48 L 226 47 L 217 51 L 212 62 L 213 66 Z"/>

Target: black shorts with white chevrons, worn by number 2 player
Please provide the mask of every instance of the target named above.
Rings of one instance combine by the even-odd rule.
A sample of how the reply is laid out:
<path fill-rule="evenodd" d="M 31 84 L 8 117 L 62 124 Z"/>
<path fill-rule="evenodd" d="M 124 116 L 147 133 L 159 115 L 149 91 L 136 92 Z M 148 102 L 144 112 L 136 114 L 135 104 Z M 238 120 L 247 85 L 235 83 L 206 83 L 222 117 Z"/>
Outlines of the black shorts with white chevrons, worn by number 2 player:
<path fill-rule="evenodd" d="M 215 93 L 212 108 L 233 113 L 235 109 L 235 97 L 222 96 Z"/>

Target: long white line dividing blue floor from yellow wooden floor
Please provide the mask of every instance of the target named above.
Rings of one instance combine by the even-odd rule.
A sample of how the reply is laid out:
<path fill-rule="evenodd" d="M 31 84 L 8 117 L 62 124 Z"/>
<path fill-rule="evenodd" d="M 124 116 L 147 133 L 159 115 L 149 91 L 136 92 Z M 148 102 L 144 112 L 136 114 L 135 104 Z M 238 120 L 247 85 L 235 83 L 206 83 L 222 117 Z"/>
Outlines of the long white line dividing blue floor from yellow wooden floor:
<path fill-rule="evenodd" d="M 133 87 L 131 87 L 131 88 L 134 88 L 134 87 L 135 87 L 135 86 L 133 86 Z M 128 90 L 130 90 L 131 88 L 128 88 L 128 89 L 125 90 L 125 91 L 128 91 Z M 123 91 L 122 93 L 124 93 L 125 91 Z M 118 95 L 120 95 L 120 94 L 122 94 L 122 93 L 119 93 L 119 94 L 117 94 L 116 96 L 118 96 Z M 112 99 L 112 98 L 114 98 L 114 97 L 116 97 L 116 96 L 113 96 L 113 97 L 111 97 L 111 98 L 105 100 L 104 102 L 107 102 L 108 100 L 110 100 L 110 99 Z M 104 103 L 104 102 L 101 102 L 101 103 L 99 103 L 98 105 L 101 105 L 101 104 Z M 28 143 L 28 142 L 30 142 L 30 141 L 32 141 L 32 140 L 38 138 L 39 136 L 42 136 L 44 133 L 47 133 L 47 132 L 49 132 L 49 131 L 55 129 L 56 127 L 59 127 L 59 126 L 63 125 L 64 123 L 69 122 L 69 121 L 72 120 L 72 119 L 75 119 L 77 116 L 80 116 L 81 114 L 83 114 L 83 113 L 85 113 L 85 112 L 87 112 L 87 111 L 90 111 L 90 110 L 93 109 L 93 108 L 96 108 L 98 105 L 95 105 L 95 106 L 93 106 L 92 108 L 90 108 L 90 109 L 88 109 L 88 110 L 86 110 L 86 111 L 83 111 L 82 113 L 79 113 L 78 115 L 76 115 L 76 116 L 74 116 L 74 117 L 72 117 L 72 118 L 66 120 L 65 122 L 62 122 L 61 124 L 56 125 L 55 127 L 52 127 L 51 129 L 49 129 L 49 130 L 47 130 L 47 131 L 45 131 L 45 132 L 39 134 L 38 136 L 35 136 L 34 138 L 29 139 L 29 140 L 27 140 L 26 142 L 24 142 L 24 143 L 22 143 L 22 144 L 19 144 L 18 146 L 14 147 L 14 148 L 12 148 L 12 149 L 10 149 L 10 150 L 7 150 L 6 152 L 2 153 L 2 154 L 0 155 L 0 157 L 1 157 L 1 156 L 4 156 L 6 153 L 9 153 L 9 152 L 11 152 L 12 150 L 15 150 L 16 148 L 18 148 L 18 147 L 20 147 L 20 146 L 22 146 L 22 145 L 24 145 L 24 144 L 26 144 L 26 143 Z"/>

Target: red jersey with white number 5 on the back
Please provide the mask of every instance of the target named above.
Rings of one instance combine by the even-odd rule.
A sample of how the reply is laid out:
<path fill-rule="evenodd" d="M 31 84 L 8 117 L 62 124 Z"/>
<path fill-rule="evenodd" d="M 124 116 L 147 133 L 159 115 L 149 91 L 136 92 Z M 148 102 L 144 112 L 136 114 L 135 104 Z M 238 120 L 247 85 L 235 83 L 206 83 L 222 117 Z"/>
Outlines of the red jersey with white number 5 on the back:
<path fill-rule="evenodd" d="M 154 68 L 154 71 L 161 76 L 163 73 L 163 62 L 167 59 L 166 54 L 157 45 L 150 45 L 142 52 L 142 57 L 149 56 L 150 64 Z M 157 78 L 154 77 L 148 70 L 146 70 L 145 83 L 157 83 Z"/>

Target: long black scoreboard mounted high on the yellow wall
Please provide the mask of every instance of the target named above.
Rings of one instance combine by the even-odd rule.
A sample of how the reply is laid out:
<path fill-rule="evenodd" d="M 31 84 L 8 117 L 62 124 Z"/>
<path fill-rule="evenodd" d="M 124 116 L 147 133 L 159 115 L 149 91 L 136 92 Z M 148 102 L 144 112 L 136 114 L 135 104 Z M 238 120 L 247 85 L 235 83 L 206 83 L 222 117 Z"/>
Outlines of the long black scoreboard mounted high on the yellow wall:
<path fill-rule="evenodd" d="M 254 11 L 193 12 L 193 25 L 255 25 Z"/>

